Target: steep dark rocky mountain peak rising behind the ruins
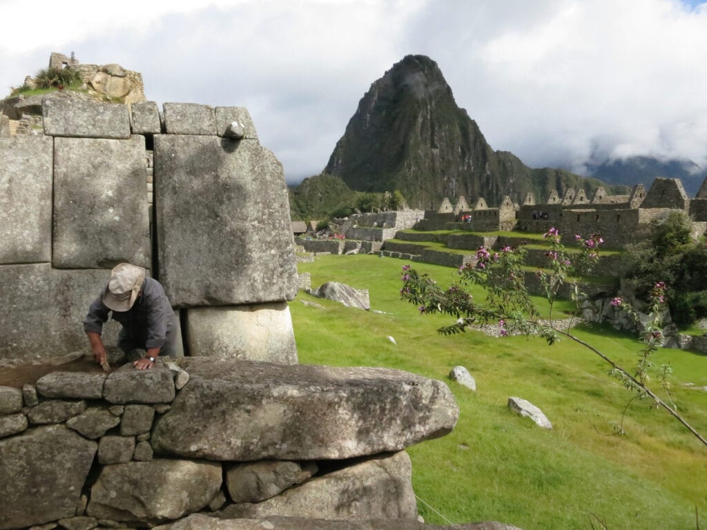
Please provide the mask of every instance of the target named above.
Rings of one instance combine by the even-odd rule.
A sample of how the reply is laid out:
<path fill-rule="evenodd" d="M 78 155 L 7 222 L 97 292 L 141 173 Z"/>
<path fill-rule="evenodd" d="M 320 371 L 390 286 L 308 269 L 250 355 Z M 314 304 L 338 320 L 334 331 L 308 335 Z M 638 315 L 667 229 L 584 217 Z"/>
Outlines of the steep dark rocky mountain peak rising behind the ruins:
<path fill-rule="evenodd" d="M 412 208 L 443 197 L 548 196 L 570 187 L 593 192 L 601 182 L 565 170 L 531 169 L 513 153 L 493 151 L 479 126 L 458 107 L 435 61 L 408 55 L 375 81 L 358 103 L 325 173 L 356 191 L 399 189 Z"/>

